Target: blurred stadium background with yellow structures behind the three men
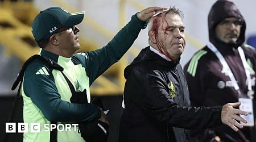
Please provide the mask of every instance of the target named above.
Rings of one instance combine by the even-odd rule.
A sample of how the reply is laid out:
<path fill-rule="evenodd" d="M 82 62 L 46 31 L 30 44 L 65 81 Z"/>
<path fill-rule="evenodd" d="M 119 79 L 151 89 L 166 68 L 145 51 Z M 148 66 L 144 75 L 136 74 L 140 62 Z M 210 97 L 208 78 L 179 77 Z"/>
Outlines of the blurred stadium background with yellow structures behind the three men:
<path fill-rule="evenodd" d="M 60 6 L 69 12 L 85 11 L 80 27 L 79 51 L 92 51 L 108 43 L 110 39 L 129 22 L 131 15 L 148 6 L 176 6 L 184 12 L 187 45 L 181 56 L 184 65 L 198 49 L 208 42 L 207 16 L 216 0 L 0 0 L 0 141 L 5 133 L 5 122 L 11 111 L 16 91 L 11 91 L 24 61 L 39 52 L 31 34 L 31 23 L 40 10 Z M 246 20 L 246 41 L 256 43 L 256 1 L 233 0 Z M 118 141 L 119 116 L 123 86 L 123 69 L 140 49 L 146 47 L 147 30 L 142 30 L 128 53 L 107 70 L 91 87 L 91 94 L 101 97 L 109 108 L 109 142 Z M 256 45 L 255 45 L 256 46 Z M 78 52 L 79 52 L 78 51 Z"/>

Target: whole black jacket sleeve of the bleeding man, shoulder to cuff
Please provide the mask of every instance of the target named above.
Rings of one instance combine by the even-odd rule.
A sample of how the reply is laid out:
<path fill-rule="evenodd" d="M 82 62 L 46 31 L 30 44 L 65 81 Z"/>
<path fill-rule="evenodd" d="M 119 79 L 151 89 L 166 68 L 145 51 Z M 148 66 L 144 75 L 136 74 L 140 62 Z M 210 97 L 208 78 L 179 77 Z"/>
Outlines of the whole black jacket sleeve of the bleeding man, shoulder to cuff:
<path fill-rule="evenodd" d="M 133 85 L 129 85 L 131 83 Z M 135 86 L 133 89 L 130 88 L 130 90 L 134 90 L 130 93 L 142 98 L 138 102 L 133 101 L 159 122 L 186 129 L 209 128 L 222 124 L 221 106 L 182 107 L 170 97 L 164 84 L 166 81 L 163 80 L 163 75 L 159 72 L 142 73 L 139 70 L 130 73 L 126 81 L 126 87 Z"/>

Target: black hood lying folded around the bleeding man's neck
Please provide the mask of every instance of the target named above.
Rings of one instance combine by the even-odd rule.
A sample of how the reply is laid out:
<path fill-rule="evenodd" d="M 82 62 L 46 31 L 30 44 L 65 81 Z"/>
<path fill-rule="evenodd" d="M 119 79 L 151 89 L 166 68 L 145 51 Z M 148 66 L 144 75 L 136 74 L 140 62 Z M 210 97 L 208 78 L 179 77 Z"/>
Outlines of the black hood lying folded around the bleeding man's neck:
<path fill-rule="evenodd" d="M 167 61 L 166 59 L 163 59 L 163 57 L 160 57 L 155 52 L 152 52 L 150 50 L 150 46 L 142 49 L 141 52 L 139 52 L 139 55 L 131 62 L 130 65 L 126 66 L 125 68 L 125 78 L 129 75 L 131 69 L 133 69 L 134 66 L 137 66 L 139 64 L 149 65 L 149 66 L 167 66 L 167 68 L 174 68 L 177 64 L 179 64 L 179 60 L 177 61 Z"/>

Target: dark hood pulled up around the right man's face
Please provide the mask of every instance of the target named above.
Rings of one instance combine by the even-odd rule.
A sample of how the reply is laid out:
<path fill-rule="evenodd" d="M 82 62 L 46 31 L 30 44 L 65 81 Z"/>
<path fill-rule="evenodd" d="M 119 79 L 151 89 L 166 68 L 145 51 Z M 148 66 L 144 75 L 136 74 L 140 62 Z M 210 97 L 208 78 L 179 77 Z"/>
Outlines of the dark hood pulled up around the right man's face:
<path fill-rule="evenodd" d="M 217 39 L 217 36 L 214 32 L 214 28 L 217 26 L 218 23 L 220 23 L 225 18 L 232 18 L 232 17 L 242 20 L 241 32 L 235 44 L 226 44 L 220 41 L 219 39 Z M 209 40 L 211 43 L 213 43 L 216 46 L 216 48 L 222 47 L 221 45 L 225 45 L 225 47 L 237 48 L 241 46 L 245 41 L 245 29 L 246 29 L 245 19 L 243 19 L 241 12 L 238 10 L 237 6 L 234 5 L 233 2 L 219 0 L 216 3 L 214 3 L 208 15 L 208 28 L 209 28 Z"/>

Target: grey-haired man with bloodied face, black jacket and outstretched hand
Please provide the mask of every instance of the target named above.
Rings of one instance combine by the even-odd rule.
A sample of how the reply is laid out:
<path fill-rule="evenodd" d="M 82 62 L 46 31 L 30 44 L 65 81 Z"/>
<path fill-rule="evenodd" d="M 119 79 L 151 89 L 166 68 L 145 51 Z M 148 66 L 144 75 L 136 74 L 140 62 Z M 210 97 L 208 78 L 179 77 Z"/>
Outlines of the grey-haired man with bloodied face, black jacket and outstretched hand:
<path fill-rule="evenodd" d="M 120 142 L 186 141 L 185 129 L 228 125 L 234 131 L 246 122 L 245 111 L 227 103 L 190 107 L 189 91 L 179 64 L 185 48 L 183 13 L 175 7 L 153 16 L 148 23 L 148 44 L 125 68 L 124 110 Z M 231 130 L 231 131 L 233 131 Z"/>

